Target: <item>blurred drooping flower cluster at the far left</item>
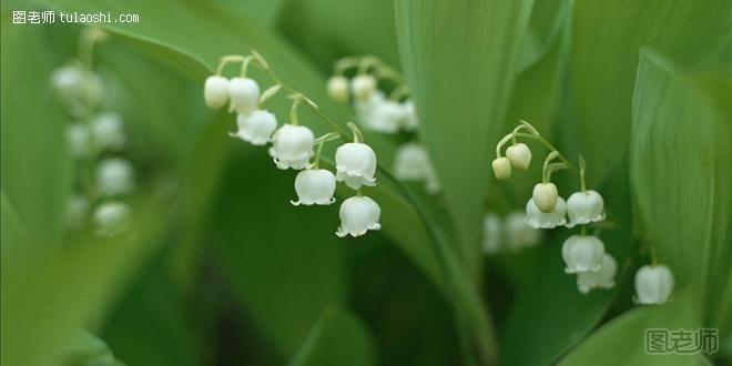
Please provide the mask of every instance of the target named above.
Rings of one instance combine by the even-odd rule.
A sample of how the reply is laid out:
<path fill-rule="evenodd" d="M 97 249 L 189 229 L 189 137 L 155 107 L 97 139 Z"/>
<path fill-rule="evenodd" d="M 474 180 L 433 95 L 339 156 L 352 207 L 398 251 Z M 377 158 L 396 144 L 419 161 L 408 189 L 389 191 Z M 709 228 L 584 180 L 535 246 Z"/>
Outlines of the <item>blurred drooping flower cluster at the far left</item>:
<path fill-rule="evenodd" d="M 94 42 L 104 38 L 101 30 L 84 30 L 80 44 L 85 52 L 80 53 L 91 58 Z M 69 228 L 80 228 L 94 207 L 96 233 L 113 236 L 130 228 L 132 210 L 121 197 L 134 189 L 134 169 L 119 155 L 128 140 L 124 124 L 118 113 L 100 110 L 105 98 L 104 81 L 91 64 L 91 60 L 73 60 L 51 77 L 71 119 L 65 138 L 78 167 L 75 192 L 68 199 L 65 218 Z"/>

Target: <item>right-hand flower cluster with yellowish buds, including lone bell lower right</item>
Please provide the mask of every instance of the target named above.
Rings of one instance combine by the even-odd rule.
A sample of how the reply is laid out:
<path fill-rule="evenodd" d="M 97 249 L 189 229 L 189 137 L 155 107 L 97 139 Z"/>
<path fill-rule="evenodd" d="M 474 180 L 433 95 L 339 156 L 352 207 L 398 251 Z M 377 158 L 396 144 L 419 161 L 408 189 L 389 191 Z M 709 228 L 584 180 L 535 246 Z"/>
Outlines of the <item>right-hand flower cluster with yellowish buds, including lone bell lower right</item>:
<path fill-rule="evenodd" d="M 526 223 L 535 228 L 572 228 L 581 225 L 581 232 L 569 236 L 562 244 L 565 272 L 577 274 L 577 286 L 583 294 L 593 288 L 612 288 L 618 264 L 612 255 L 606 252 L 604 244 L 597 235 L 587 234 L 588 225 L 604 221 L 606 214 L 600 193 L 587 189 L 584 160 L 579 157 L 580 191 L 572 193 L 565 201 L 559 195 L 557 185 L 551 182 L 551 174 L 569 169 L 570 162 L 531 124 L 521 121 L 521 124 L 504 136 L 496 146 L 496 159 L 492 162 L 496 179 L 507 180 L 511 176 L 512 169 L 525 171 L 529 167 L 531 151 L 528 145 L 518 142 L 519 138 L 538 141 L 550 150 L 543 162 L 542 180 L 535 185 L 531 197 L 526 203 Z M 501 149 L 509 141 L 511 145 L 506 149 L 506 156 L 502 156 Z M 495 220 L 487 216 L 485 231 L 488 231 L 488 226 L 497 226 Z M 645 266 L 636 275 L 637 299 L 640 304 L 662 304 L 672 288 L 673 277 L 665 266 Z"/>

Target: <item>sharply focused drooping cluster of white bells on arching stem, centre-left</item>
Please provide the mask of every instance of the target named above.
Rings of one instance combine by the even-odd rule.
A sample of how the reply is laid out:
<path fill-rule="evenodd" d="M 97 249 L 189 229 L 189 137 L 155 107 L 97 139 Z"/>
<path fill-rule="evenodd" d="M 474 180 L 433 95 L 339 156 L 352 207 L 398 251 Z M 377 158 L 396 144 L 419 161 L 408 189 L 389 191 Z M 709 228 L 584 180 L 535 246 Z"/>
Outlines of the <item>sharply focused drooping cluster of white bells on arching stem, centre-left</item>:
<path fill-rule="evenodd" d="M 226 79 L 222 75 L 224 67 L 228 63 L 241 64 L 240 77 Z M 261 93 L 260 84 L 246 77 L 250 65 L 263 71 L 274 84 Z M 366 87 L 360 85 L 359 93 L 364 93 Z M 346 95 L 348 93 L 347 83 L 343 85 L 331 82 L 328 89 L 343 89 L 342 93 Z M 282 125 L 278 125 L 274 113 L 263 109 L 265 101 L 279 90 L 285 90 L 293 100 L 289 121 Z M 377 160 L 374 150 L 365 143 L 360 130 L 355 124 L 347 123 L 353 132 L 353 141 L 336 149 L 335 174 L 322 169 L 319 162 L 324 144 L 337 139 L 347 139 L 348 135 L 325 116 L 311 99 L 283 84 L 260 53 L 252 51 L 250 55 L 223 57 L 216 74 L 209 77 L 204 83 L 204 99 L 206 105 L 212 109 L 220 109 L 228 103 L 230 112 L 236 113 L 237 131 L 231 133 L 232 136 L 256 146 L 271 144 L 268 152 L 277 169 L 299 171 L 294 184 L 297 200 L 291 201 L 293 205 L 329 205 L 336 201 L 334 197 L 336 183 L 343 182 L 357 193 L 340 204 L 340 226 L 336 235 L 355 237 L 366 234 L 367 231 L 380 228 L 379 205 L 362 195 L 363 186 L 376 185 Z M 311 109 L 331 124 L 334 131 L 315 138 L 309 128 L 299 124 L 298 105 Z"/>

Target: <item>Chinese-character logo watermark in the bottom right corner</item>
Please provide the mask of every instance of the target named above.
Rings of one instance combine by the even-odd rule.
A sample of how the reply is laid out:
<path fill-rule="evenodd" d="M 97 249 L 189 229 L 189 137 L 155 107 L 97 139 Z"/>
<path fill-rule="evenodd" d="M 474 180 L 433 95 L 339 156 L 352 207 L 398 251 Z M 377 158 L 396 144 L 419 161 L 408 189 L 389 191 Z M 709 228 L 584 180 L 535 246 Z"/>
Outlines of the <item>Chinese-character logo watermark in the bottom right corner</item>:
<path fill-rule="evenodd" d="M 718 328 L 645 329 L 645 353 L 649 355 L 711 355 L 719 350 Z"/>

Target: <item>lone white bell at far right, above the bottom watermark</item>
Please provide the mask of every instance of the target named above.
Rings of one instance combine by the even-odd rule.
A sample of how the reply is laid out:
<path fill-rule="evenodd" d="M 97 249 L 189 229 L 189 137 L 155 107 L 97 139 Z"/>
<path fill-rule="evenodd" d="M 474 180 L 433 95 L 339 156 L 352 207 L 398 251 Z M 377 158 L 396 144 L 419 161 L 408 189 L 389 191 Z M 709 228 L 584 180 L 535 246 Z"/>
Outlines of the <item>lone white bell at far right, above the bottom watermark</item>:
<path fill-rule="evenodd" d="M 644 265 L 636 272 L 636 302 L 661 305 L 673 292 L 673 274 L 665 265 Z"/>

